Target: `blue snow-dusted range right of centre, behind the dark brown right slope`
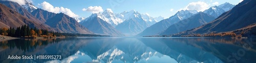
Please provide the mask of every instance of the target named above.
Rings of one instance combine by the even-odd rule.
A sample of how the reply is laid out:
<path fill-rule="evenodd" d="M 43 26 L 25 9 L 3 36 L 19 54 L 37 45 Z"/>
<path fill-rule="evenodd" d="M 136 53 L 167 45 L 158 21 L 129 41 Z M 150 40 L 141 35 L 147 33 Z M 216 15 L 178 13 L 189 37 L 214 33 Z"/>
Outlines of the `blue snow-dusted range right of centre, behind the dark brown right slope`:
<path fill-rule="evenodd" d="M 184 31 L 184 30 L 196 28 L 214 20 L 219 15 L 224 13 L 226 9 L 229 9 L 229 10 L 232 9 L 234 5 L 231 5 L 229 3 L 224 3 L 220 6 L 221 7 L 218 7 L 218 6 L 210 7 L 209 9 L 203 11 L 203 13 L 205 14 L 200 13 L 200 15 L 195 15 L 198 13 L 195 10 L 194 11 L 181 10 L 177 12 L 174 16 L 168 19 L 162 20 L 152 25 L 151 27 L 146 28 L 142 33 L 138 34 L 137 36 L 170 35 L 170 34 L 180 33 L 181 31 Z M 213 16 L 214 18 L 210 16 Z M 184 21 L 181 21 L 181 20 L 184 20 Z"/>

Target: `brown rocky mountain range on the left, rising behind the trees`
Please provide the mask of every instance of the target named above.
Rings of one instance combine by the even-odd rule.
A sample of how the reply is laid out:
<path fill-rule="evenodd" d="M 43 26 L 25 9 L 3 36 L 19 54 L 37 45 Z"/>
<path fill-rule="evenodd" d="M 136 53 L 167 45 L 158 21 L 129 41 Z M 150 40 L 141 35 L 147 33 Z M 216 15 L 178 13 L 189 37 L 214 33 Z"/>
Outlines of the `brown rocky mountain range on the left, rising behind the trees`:
<path fill-rule="evenodd" d="M 14 2 L 0 1 L 0 3 L 12 9 L 13 10 L 12 13 L 17 12 L 23 15 L 23 17 L 25 17 L 26 19 L 28 19 L 28 21 L 31 21 L 31 22 L 27 22 L 25 19 L 19 19 L 19 20 L 24 20 L 24 22 L 27 25 L 29 25 L 31 28 L 38 27 L 42 29 L 48 29 L 50 31 L 58 31 L 59 33 L 93 34 L 92 31 L 88 30 L 86 27 L 83 27 L 74 18 L 71 18 L 68 15 L 65 15 L 63 13 L 55 14 L 55 13 L 51 13 L 41 9 L 37 9 L 37 10 L 34 10 L 33 12 L 30 12 L 27 9 L 23 8 L 22 6 Z M 29 5 L 29 3 L 26 3 L 26 4 Z M 27 7 L 27 8 L 30 8 L 30 7 Z M 18 20 L 18 19 L 13 18 L 9 20 Z M 12 21 L 12 23 L 15 25 L 9 25 L 9 27 L 24 25 L 24 24 L 16 24 L 16 23 L 22 23 L 22 22 Z"/>

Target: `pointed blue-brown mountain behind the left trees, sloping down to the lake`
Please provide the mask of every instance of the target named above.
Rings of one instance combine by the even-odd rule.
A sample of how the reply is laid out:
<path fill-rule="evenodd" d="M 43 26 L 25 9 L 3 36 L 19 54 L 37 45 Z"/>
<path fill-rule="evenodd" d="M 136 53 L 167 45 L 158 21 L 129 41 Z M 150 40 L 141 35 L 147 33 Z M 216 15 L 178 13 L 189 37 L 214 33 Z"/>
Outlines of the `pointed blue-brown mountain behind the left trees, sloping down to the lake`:
<path fill-rule="evenodd" d="M 63 13 L 56 14 L 56 16 L 48 19 L 45 23 L 55 28 L 60 33 L 93 34 L 86 27 L 79 24 L 74 18 Z"/>

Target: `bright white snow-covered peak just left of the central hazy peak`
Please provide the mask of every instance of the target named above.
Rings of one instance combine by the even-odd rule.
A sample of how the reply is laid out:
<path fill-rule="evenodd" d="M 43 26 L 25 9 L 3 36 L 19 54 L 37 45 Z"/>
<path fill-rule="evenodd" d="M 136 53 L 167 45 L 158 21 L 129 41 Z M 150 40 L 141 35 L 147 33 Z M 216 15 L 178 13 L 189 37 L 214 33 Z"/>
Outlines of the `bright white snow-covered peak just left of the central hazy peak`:
<path fill-rule="evenodd" d="M 122 19 L 117 18 L 111 9 L 106 9 L 102 15 L 107 18 L 105 21 L 110 23 L 113 27 L 123 22 Z"/>

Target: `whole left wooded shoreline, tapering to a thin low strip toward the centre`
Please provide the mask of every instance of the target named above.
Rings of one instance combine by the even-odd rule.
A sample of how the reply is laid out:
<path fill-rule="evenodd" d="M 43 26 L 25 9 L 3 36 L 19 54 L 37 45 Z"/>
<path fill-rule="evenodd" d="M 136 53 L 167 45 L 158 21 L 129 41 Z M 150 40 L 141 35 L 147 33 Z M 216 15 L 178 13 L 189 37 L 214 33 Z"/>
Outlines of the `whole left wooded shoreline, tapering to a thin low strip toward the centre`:
<path fill-rule="evenodd" d="M 25 37 L 25 38 L 36 38 L 36 37 L 110 37 L 106 35 L 93 35 L 93 34 L 73 34 L 73 33 L 58 33 L 49 31 L 47 29 L 38 29 L 36 27 L 30 28 L 28 25 L 22 25 L 10 28 L 0 28 L 0 35 L 10 37 Z"/>

